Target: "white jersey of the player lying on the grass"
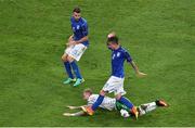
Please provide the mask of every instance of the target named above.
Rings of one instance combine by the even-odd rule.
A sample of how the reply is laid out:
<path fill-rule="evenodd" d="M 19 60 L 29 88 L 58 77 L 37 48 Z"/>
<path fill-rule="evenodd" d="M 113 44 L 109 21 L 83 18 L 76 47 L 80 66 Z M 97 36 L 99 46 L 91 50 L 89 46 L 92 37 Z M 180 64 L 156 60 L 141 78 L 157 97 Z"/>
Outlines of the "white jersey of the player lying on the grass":
<path fill-rule="evenodd" d="M 96 101 L 98 98 L 99 98 L 99 94 L 91 94 L 88 99 L 88 105 L 92 105 Z M 108 111 L 113 111 L 115 108 L 115 104 L 116 104 L 116 99 L 105 97 L 100 107 L 106 108 Z"/>

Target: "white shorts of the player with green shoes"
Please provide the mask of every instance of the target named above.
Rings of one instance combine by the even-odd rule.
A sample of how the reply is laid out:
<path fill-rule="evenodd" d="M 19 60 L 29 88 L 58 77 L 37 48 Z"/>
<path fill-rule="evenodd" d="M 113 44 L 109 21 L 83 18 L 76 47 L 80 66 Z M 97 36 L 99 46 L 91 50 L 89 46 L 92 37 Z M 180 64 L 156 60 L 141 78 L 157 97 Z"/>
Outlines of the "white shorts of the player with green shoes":
<path fill-rule="evenodd" d="M 65 53 L 69 56 L 74 57 L 76 61 L 79 61 L 84 51 L 87 50 L 87 47 L 82 43 L 70 46 L 65 49 Z"/>

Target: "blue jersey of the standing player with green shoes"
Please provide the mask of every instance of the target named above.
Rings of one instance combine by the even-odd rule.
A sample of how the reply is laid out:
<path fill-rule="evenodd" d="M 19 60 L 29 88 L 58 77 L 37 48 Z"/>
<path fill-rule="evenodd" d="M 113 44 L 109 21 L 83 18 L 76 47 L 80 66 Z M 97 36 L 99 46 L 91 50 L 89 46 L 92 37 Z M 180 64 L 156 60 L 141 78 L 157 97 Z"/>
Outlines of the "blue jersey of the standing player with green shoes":
<path fill-rule="evenodd" d="M 80 40 L 81 38 L 88 36 L 88 23 L 84 18 L 80 17 L 76 21 L 74 17 L 70 18 L 72 29 L 74 33 L 74 40 Z M 89 46 L 89 41 L 82 42 L 84 46 Z"/>

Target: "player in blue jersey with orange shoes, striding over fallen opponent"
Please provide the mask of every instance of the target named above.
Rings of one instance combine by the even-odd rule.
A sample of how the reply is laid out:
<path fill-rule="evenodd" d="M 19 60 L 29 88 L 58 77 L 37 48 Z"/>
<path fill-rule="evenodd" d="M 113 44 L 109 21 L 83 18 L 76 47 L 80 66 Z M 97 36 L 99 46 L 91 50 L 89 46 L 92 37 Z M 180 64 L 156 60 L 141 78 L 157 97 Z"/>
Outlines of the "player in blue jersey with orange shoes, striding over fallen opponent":
<path fill-rule="evenodd" d="M 123 94 L 126 94 L 126 91 L 123 90 L 123 62 L 127 61 L 133 67 L 139 77 L 143 77 L 146 74 L 139 71 L 129 52 L 119 44 L 117 36 L 113 33 L 108 35 L 107 47 L 112 50 L 110 78 L 100 91 L 98 100 L 91 106 L 83 107 L 83 111 L 89 115 L 93 115 L 95 110 L 103 102 L 105 94 L 114 92 L 117 102 L 125 104 L 134 115 L 134 117 L 138 118 L 139 112 L 136 111 L 136 107 L 127 98 L 123 97 Z"/>

